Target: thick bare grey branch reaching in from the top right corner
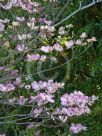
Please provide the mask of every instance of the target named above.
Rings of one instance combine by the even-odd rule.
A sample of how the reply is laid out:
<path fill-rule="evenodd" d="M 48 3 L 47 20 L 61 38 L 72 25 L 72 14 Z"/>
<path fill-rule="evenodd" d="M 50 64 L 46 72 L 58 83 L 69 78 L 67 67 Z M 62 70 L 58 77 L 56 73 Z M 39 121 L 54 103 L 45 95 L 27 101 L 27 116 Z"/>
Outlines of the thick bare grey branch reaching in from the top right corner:
<path fill-rule="evenodd" d="M 68 20 L 69 18 L 71 18 L 72 16 L 74 16 L 75 14 L 77 14 L 78 12 L 80 12 L 80 11 L 82 11 L 82 10 L 85 10 L 85 9 L 87 9 L 87 8 L 89 8 L 89 7 L 92 7 L 92 6 L 94 6 L 95 4 L 100 3 L 100 2 L 102 2 L 102 0 L 97 0 L 97 1 L 94 1 L 94 0 L 93 0 L 92 3 L 90 3 L 90 4 L 88 4 L 88 5 L 84 6 L 84 7 L 79 7 L 76 11 L 74 11 L 72 14 L 70 14 L 69 16 L 67 16 L 66 18 L 64 18 L 62 21 L 60 21 L 60 22 L 54 24 L 54 26 L 56 27 L 56 26 L 62 24 L 63 22 L 65 22 L 66 20 Z"/>

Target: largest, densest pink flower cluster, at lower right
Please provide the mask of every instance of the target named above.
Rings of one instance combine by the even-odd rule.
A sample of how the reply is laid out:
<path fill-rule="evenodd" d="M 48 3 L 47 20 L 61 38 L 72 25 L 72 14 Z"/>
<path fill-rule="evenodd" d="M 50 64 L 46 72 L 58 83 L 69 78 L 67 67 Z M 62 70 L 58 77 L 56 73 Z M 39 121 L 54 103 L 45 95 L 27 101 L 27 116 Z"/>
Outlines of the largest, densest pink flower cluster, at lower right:
<path fill-rule="evenodd" d="M 67 117 L 81 116 L 83 114 L 90 114 L 90 105 L 92 105 L 98 97 L 86 96 L 80 91 L 74 91 L 70 94 L 64 94 L 61 97 L 61 108 L 58 108 L 55 114 L 64 115 Z M 61 118 L 61 116 L 60 116 Z"/>

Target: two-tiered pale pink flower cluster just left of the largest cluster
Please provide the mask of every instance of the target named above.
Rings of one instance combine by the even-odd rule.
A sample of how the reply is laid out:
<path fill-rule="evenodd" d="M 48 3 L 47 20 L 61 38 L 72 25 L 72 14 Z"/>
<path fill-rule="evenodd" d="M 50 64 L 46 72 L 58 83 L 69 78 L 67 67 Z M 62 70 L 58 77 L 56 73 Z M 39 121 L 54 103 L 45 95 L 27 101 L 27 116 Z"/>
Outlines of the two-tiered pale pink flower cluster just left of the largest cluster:
<path fill-rule="evenodd" d="M 31 86 L 35 92 L 38 92 L 36 96 L 31 96 L 31 102 L 36 102 L 40 106 L 48 102 L 54 103 L 54 94 L 59 88 L 63 88 L 64 83 L 54 83 L 53 80 L 49 80 L 48 82 L 34 81 Z M 39 92 L 40 90 L 44 90 L 45 92 Z"/>

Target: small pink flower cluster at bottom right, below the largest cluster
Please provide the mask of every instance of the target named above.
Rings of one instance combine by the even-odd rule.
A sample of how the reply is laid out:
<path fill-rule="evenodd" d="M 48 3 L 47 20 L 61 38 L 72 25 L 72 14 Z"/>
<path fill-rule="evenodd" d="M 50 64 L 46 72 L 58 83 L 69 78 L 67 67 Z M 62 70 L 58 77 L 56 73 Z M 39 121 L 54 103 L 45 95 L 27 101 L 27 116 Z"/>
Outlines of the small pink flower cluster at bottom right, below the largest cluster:
<path fill-rule="evenodd" d="M 71 124 L 69 131 L 71 133 L 77 134 L 81 131 L 86 131 L 87 127 L 83 126 L 82 124 Z"/>

